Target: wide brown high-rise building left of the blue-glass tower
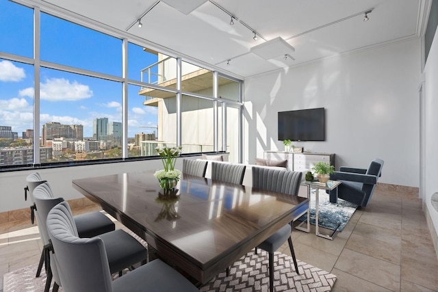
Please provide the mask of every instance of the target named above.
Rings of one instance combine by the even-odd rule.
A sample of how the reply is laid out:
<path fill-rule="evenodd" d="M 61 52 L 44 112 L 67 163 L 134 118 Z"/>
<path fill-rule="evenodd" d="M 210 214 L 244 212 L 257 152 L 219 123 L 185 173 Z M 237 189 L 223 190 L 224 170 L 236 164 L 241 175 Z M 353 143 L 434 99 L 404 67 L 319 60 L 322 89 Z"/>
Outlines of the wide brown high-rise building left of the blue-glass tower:
<path fill-rule="evenodd" d="M 81 124 L 61 124 L 60 122 L 47 122 L 42 125 L 43 146 L 47 146 L 47 140 L 62 137 L 83 140 L 83 126 Z"/>

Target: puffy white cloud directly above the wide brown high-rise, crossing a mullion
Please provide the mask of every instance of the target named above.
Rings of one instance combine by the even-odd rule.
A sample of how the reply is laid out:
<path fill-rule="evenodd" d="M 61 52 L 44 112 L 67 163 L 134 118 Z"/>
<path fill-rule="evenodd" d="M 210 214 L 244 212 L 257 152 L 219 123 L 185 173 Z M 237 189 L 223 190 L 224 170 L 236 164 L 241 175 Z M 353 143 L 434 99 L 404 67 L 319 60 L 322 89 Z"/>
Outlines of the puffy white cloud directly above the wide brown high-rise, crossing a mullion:
<path fill-rule="evenodd" d="M 25 88 L 20 90 L 21 96 L 33 97 L 34 89 Z M 46 83 L 40 85 L 40 98 L 46 101 L 79 101 L 90 98 L 93 95 L 88 85 L 77 81 L 70 82 L 64 78 L 46 79 Z"/>

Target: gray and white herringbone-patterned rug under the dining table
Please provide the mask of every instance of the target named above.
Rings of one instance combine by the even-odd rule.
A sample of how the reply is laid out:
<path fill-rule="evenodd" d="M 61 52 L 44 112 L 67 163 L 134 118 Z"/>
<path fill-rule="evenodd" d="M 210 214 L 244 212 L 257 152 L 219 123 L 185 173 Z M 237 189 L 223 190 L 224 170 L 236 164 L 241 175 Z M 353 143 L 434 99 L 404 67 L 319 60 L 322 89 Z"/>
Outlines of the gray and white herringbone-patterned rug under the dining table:
<path fill-rule="evenodd" d="M 336 281 L 335 275 L 302 261 L 298 261 L 300 274 L 296 274 L 292 257 L 280 252 L 275 252 L 274 265 L 274 291 L 331 291 Z M 29 265 L 4 274 L 3 292 L 44 291 L 46 275 L 43 269 L 41 276 L 35 278 L 37 267 Z M 233 264 L 230 276 L 220 273 L 201 291 L 269 291 L 268 253 L 248 252 Z"/>

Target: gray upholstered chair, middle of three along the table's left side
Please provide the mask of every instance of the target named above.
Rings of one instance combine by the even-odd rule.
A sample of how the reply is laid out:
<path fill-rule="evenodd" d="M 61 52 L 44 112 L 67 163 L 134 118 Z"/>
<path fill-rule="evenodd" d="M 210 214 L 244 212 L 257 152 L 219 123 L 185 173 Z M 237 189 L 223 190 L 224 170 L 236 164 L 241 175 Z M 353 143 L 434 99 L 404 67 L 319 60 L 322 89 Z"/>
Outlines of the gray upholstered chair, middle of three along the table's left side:
<path fill-rule="evenodd" d="M 38 185 L 32 195 L 34 196 L 34 201 L 36 204 L 36 208 L 38 209 L 38 213 L 40 214 L 41 229 L 44 238 L 44 250 L 50 250 L 50 242 L 49 242 L 49 233 L 47 231 L 47 215 L 49 211 L 58 203 L 64 202 L 63 198 L 55 198 L 51 191 L 49 183 L 42 183 Z M 102 214 L 103 215 L 103 214 Z M 105 215 L 103 215 L 105 216 Z M 106 216 L 105 216 L 106 217 Z M 107 217 L 106 217 L 107 218 Z M 108 219 L 108 218 L 107 218 Z M 74 224 L 74 228 L 76 230 L 77 236 L 79 235 L 78 226 L 81 224 L 86 224 L 86 222 L 81 222 L 78 225 L 77 216 L 72 216 L 72 221 Z M 79 220 L 80 222 L 81 220 Z M 92 223 L 92 222 L 90 222 Z M 95 223 L 95 222 L 94 222 Z M 83 238 L 89 238 L 89 233 L 86 233 L 87 236 L 83 236 Z M 146 263 L 147 259 L 147 250 L 144 246 L 138 242 L 136 239 L 131 237 L 131 235 L 127 234 L 124 230 L 112 230 L 107 233 L 99 233 L 96 236 L 103 240 L 105 243 L 105 250 L 107 251 L 107 260 L 110 263 L 110 271 L 112 274 L 118 272 L 119 276 L 121 276 L 121 271 L 126 267 L 131 267 L 136 263 Z M 62 280 L 60 277 L 60 273 L 56 267 L 56 264 L 51 261 L 51 254 L 47 252 L 46 256 L 46 269 L 47 269 L 47 282 L 44 291 L 49 291 L 51 286 L 52 278 L 55 279 L 55 284 L 53 285 L 53 290 L 57 291 L 58 287 L 62 286 Z"/>

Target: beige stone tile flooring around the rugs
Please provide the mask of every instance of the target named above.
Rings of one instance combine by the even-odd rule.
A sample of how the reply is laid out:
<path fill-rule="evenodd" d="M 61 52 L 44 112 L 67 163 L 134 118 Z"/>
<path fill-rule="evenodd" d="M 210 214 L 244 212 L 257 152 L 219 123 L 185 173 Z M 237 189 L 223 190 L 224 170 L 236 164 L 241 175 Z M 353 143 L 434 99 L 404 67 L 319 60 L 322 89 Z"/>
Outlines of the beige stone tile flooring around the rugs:
<path fill-rule="evenodd" d="M 0 224 L 0 275 L 38 263 L 38 228 L 28 221 Z M 297 258 L 337 276 L 334 292 L 438 291 L 437 254 L 420 200 L 411 194 L 376 190 L 333 241 L 299 230 L 292 238 Z M 286 244 L 279 251 L 290 254 Z"/>

